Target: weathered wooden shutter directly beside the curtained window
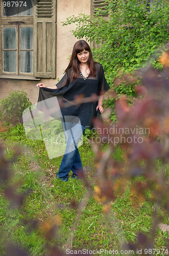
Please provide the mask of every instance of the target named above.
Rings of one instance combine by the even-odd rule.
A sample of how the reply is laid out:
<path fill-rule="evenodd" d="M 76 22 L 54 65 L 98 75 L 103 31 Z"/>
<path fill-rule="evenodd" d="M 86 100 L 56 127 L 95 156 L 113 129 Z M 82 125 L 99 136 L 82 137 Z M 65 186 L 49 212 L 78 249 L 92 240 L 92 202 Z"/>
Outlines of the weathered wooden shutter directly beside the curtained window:
<path fill-rule="evenodd" d="M 56 0 L 35 0 L 34 76 L 55 78 Z"/>

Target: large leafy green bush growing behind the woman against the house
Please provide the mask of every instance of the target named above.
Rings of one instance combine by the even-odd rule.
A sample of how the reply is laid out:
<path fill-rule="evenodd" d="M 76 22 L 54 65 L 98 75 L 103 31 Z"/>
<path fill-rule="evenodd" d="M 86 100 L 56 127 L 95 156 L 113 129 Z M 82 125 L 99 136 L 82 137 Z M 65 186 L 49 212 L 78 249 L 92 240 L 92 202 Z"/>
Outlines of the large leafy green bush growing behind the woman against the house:
<path fill-rule="evenodd" d="M 109 86 L 118 95 L 133 97 L 138 81 L 121 81 L 115 85 L 114 79 L 127 73 L 132 77 L 135 70 L 148 65 L 162 68 L 158 58 L 169 39 L 169 3 L 154 0 L 150 7 L 147 1 L 107 0 L 105 4 L 92 18 L 80 14 L 67 18 L 63 25 L 74 23 L 76 29 L 72 33 L 78 39 L 95 42 L 93 56 L 103 66 Z M 105 14 L 108 14 L 107 18 Z M 110 106 L 114 108 L 114 104 L 115 100 L 112 100 Z"/>

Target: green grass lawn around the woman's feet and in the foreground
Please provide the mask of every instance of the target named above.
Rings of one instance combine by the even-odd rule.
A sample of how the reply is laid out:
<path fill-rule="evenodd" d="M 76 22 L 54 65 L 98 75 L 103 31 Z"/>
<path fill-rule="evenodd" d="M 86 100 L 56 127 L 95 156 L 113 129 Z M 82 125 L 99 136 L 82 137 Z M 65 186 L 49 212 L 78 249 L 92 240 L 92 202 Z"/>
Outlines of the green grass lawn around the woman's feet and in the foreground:
<path fill-rule="evenodd" d="M 87 188 L 80 180 L 70 178 L 68 182 L 63 182 L 55 178 L 62 157 L 49 160 L 44 142 L 27 139 L 22 125 L 2 133 L 1 140 L 7 160 L 11 160 L 18 152 L 17 159 L 10 164 L 13 176 L 8 185 L 15 186 L 18 195 L 27 193 L 20 207 L 10 207 L 12 201 L 4 195 L 5 184 L 1 186 L 2 256 L 5 255 L 5 245 L 12 241 L 35 256 L 47 253 L 48 246 L 57 246 L 60 250 L 66 248 L 68 239 L 72 250 L 115 250 L 120 249 L 125 241 L 136 242 L 139 232 L 150 237 L 154 203 L 132 203 L 130 200 L 130 186 L 135 180 L 144 181 L 142 177 L 131 180 L 123 193 L 117 193 L 115 200 L 110 202 L 109 214 L 103 213 L 103 205 L 94 196 L 89 197 L 84 210 L 78 214 L 77 207 L 85 200 Z M 103 146 L 103 151 L 106 147 Z M 95 175 L 92 147 L 82 145 L 79 152 L 83 166 L 89 166 L 86 176 L 93 189 L 98 178 Z M 117 147 L 113 157 L 119 162 L 123 161 L 123 151 Z M 157 165 L 160 168 L 160 161 Z M 166 166 L 167 177 L 168 170 L 169 166 Z M 158 215 L 162 223 L 169 224 L 164 209 L 159 209 Z M 162 233 L 157 228 L 154 236 L 154 248 L 167 248 L 167 232 Z"/>

